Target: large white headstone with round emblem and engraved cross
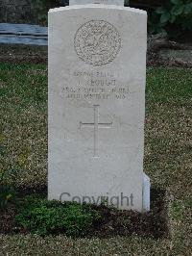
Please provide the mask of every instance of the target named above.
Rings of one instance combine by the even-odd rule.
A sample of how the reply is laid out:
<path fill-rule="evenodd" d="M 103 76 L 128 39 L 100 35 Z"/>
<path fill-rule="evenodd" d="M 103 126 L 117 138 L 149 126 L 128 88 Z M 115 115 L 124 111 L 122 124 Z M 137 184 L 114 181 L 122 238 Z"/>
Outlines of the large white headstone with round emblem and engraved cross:
<path fill-rule="evenodd" d="M 143 11 L 49 12 L 49 199 L 146 210 L 146 41 Z"/>

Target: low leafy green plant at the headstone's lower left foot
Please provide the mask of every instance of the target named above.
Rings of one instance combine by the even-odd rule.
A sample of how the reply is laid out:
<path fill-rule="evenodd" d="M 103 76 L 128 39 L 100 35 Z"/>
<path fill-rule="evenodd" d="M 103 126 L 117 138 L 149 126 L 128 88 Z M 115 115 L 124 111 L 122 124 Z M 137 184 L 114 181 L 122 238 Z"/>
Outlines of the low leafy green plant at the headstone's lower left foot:
<path fill-rule="evenodd" d="M 100 218 L 99 212 L 90 205 L 27 197 L 15 217 L 15 223 L 40 236 L 65 233 L 81 237 Z"/>

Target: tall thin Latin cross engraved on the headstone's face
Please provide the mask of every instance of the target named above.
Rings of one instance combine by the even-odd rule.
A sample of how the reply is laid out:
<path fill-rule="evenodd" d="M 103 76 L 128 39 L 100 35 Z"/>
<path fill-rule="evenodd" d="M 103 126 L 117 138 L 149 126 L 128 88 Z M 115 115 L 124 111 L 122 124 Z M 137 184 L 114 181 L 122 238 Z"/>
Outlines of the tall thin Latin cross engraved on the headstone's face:
<path fill-rule="evenodd" d="M 94 105 L 94 122 L 83 123 L 80 122 L 80 128 L 94 128 L 94 155 L 93 157 L 99 157 L 99 129 L 101 128 L 112 128 L 112 122 L 110 123 L 101 123 L 99 120 L 99 105 Z"/>

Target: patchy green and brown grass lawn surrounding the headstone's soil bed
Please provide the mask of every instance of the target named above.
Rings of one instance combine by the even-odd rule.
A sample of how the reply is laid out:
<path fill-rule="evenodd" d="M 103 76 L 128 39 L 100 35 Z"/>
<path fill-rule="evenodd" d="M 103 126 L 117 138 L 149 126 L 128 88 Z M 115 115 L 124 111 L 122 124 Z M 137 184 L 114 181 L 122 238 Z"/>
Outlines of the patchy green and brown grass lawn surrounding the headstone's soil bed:
<path fill-rule="evenodd" d="M 19 190 L 47 176 L 47 67 L 0 64 L 0 171 Z M 192 70 L 148 68 L 145 172 L 167 191 L 166 239 L 1 235 L 0 255 L 192 255 Z M 1 232 L 0 232 L 1 233 Z"/>

